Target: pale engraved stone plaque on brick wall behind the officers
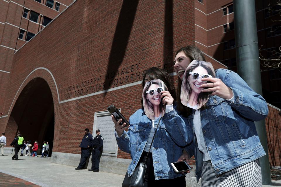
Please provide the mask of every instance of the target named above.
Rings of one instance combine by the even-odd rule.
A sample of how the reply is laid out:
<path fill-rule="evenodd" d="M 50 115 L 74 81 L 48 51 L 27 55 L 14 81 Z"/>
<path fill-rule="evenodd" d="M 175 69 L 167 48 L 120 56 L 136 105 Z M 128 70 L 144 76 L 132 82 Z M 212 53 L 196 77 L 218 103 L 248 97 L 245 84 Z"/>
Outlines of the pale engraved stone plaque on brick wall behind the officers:
<path fill-rule="evenodd" d="M 97 116 L 95 129 L 100 129 L 103 139 L 103 153 L 116 153 L 116 138 L 114 135 L 114 123 L 111 115 Z"/>

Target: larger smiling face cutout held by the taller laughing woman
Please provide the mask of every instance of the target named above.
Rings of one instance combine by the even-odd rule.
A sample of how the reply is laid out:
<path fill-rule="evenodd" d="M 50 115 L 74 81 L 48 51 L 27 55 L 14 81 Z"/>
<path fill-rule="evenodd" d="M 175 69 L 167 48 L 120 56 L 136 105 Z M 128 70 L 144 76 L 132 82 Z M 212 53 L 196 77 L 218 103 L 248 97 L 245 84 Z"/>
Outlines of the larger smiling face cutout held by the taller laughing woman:
<path fill-rule="evenodd" d="M 215 70 L 211 63 L 193 60 L 184 72 L 181 84 L 181 103 L 193 109 L 199 109 L 208 101 L 212 92 L 202 92 L 201 84 L 208 82 L 201 78 L 215 78 Z"/>

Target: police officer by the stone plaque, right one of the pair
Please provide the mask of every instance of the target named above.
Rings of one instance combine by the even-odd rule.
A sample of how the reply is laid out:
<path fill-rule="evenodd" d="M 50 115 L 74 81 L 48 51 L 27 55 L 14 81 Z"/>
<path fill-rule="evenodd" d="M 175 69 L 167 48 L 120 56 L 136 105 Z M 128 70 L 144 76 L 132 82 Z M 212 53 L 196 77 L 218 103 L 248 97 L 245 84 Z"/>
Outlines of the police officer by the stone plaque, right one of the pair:
<path fill-rule="evenodd" d="M 103 137 L 100 135 L 100 129 L 96 130 L 97 136 L 94 138 L 92 150 L 92 168 L 89 171 L 99 172 L 100 157 L 102 156 Z"/>

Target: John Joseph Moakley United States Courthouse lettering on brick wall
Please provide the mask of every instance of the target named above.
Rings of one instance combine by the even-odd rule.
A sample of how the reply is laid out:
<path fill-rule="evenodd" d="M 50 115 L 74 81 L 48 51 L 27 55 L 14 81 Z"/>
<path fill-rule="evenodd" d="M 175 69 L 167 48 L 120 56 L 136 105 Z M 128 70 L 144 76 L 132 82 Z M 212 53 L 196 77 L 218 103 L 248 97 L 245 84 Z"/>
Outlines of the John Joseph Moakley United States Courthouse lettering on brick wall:
<path fill-rule="evenodd" d="M 73 97 L 102 91 L 106 87 L 105 84 L 109 84 L 107 85 L 107 87 L 112 88 L 139 81 L 141 80 L 141 76 L 143 73 L 139 71 L 139 65 L 140 63 L 135 63 L 133 65 L 122 67 L 116 71 L 107 73 L 104 77 L 92 77 L 79 83 L 69 85 L 67 87 L 66 98 L 70 99 Z"/>

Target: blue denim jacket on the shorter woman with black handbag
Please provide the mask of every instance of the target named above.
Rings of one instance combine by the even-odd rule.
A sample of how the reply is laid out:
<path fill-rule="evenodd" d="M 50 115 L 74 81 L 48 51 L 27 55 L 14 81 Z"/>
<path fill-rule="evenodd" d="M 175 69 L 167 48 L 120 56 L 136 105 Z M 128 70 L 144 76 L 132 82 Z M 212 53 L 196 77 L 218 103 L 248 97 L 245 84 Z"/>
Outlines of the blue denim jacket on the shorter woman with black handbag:
<path fill-rule="evenodd" d="M 145 115 L 142 109 L 139 109 L 130 117 L 129 122 L 128 132 L 124 131 L 121 137 L 116 137 L 116 141 L 122 151 L 131 154 L 132 162 L 128 167 L 128 175 L 131 176 L 145 148 L 152 128 L 152 120 Z M 154 122 L 155 128 L 158 122 L 159 119 Z M 181 131 L 176 128 L 179 126 L 182 127 Z M 173 109 L 161 118 L 155 133 L 151 147 L 155 180 L 183 176 L 181 173 L 174 172 L 171 162 L 177 162 L 181 156 L 182 148 L 180 146 L 185 146 L 193 141 L 192 129 L 185 125 L 185 122 Z"/>

